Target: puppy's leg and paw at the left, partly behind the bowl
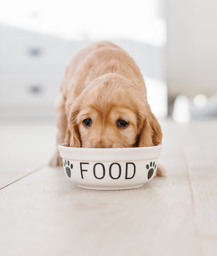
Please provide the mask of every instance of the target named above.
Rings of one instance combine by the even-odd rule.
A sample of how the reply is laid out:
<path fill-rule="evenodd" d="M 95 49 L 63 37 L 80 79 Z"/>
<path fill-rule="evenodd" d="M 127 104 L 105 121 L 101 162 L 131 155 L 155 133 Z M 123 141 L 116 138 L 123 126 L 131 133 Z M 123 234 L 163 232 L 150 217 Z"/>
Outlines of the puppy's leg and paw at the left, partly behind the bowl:
<path fill-rule="evenodd" d="M 55 110 L 56 110 L 56 123 L 58 126 L 58 136 L 57 136 L 57 145 L 60 143 L 64 143 L 66 137 L 66 129 L 67 129 L 67 117 L 66 117 L 66 99 L 63 94 L 58 95 L 58 99 L 56 100 Z M 62 159 L 60 157 L 58 148 L 56 148 L 55 154 L 52 159 L 50 159 L 50 166 L 62 165 Z"/>

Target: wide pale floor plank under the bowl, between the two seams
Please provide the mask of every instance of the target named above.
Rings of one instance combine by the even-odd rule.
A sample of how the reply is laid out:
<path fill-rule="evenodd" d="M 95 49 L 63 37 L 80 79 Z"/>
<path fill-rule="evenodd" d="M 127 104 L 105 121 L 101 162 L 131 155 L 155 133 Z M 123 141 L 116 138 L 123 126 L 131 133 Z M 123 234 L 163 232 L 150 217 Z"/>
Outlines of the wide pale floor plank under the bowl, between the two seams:
<path fill-rule="evenodd" d="M 17 181 L 0 191 L 0 254 L 202 255 L 186 170 L 167 168 L 167 177 L 125 191 L 80 189 L 61 167 Z"/>

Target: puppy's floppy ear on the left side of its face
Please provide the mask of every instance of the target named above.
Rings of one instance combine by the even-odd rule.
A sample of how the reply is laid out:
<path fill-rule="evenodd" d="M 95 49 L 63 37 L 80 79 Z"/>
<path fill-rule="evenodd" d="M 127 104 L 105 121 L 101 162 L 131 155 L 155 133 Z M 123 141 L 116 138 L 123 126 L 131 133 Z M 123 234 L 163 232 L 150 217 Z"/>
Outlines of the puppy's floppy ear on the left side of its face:
<path fill-rule="evenodd" d="M 74 148 L 82 147 L 79 126 L 76 121 L 76 117 L 78 116 L 78 114 L 79 105 L 72 105 L 72 108 L 69 113 L 65 142 L 68 143 L 70 147 Z"/>

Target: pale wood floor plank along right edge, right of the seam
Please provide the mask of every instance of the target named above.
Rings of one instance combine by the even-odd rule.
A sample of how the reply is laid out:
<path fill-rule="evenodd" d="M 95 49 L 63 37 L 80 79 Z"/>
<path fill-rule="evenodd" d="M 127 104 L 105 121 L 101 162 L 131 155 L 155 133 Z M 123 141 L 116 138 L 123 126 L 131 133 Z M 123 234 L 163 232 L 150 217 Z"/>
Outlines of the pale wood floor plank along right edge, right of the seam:
<path fill-rule="evenodd" d="M 217 121 L 194 121 L 186 127 L 184 157 L 202 236 L 217 236 Z"/>

